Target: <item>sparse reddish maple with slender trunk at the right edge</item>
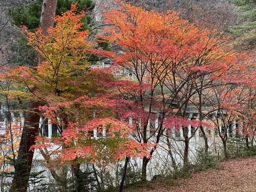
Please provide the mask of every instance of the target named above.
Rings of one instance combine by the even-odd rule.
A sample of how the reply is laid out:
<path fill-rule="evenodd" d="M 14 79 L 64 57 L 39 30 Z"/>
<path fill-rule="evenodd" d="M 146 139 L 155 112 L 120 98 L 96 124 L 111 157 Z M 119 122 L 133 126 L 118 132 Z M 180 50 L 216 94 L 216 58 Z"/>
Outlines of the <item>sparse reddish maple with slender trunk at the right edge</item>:
<path fill-rule="evenodd" d="M 254 105 L 250 99 L 254 97 L 252 79 L 255 75 L 249 64 L 250 58 L 244 54 L 229 56 L 234 57 L 232 60 L 236 62 L 229 66 L 225 75 L 216 76 L 213 79 L 212 87 L 207 95 L 204 95 L 204 102 L 207 103 L 208 111 L 211 111 L 211 117 L 208 119 L 215 123 L 215 131 L 223 143 L 225 158 L 229 156 L 227 147 L 229 137 L 241 135 L 246 143 L 248 143 L 249 135 L 253 137 L 253 131 L 249 131 L 253 130 L 253 126 L 249 125 L 249 128 L 243 124 L 247 124 L 244 121 L 245 116 L 250 114 L 251 117 L 254 113 Z M 250 75 L 247 75 L 248 71 Z M 247 131 L 243 130 L 244 127 Z"/>

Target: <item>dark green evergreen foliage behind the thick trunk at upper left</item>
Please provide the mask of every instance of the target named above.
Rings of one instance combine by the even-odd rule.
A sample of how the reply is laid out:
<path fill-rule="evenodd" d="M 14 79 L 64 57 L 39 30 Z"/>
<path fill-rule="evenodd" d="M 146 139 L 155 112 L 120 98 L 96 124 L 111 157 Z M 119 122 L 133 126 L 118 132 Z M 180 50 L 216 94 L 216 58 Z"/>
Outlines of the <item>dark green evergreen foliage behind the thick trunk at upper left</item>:
<path fill-rule="evenodd" d="M 15 8 L 9 8 L 8 14 L 12 17 L 12 24 L 14 24 L 17 27 L 24 25 L 30 31 L 33 31 L 34 29 L 38 28 L 40 24 L 42 2 L 43 0 L 34 0 L 27 5 L 20 5 Z M 78 12 L 82 10 L 90 12 L 95 7 L 95 3 L 93 2 L 93 0 L 58 0 L 55 15 L 61 15 L 62 13 L 67 12 L 71 9 L 71 5 L 75 4 L 76 2 L 78 3 Z M 84 23 L 83 30 L 89 31 L 91 31 L 91 27 L 95 24 L 95 21 L 90 16 L 90 14 L 86 14 L 86 16 L 82 18 L 82 22 Z M 17 52 L 17 66 L 33 66 L 35 52 L 27 44 L 27 39 L 25 39 L 24 36 L 20 35 L 19 38 L 17 38 L 17 45 L 19 47 L 23 47 L 23 49 L 17 50 L 16 44 L 13 45 L 11 48 L 13 52 Z M 104 48 L 104 45 L 102 47 Z M 99 58 L 92 58 L 91 60 L 98 59 Z"/>

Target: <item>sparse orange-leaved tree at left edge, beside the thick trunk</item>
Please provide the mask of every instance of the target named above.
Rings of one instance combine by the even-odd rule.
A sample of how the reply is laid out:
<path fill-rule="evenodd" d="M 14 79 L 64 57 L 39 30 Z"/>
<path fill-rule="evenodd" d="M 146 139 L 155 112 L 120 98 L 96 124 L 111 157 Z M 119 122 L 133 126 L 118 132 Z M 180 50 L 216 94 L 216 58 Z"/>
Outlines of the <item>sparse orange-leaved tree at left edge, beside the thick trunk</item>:
<path fill-rule="evenodd" d="M 3 74 L 2 74 L 3 75 Z M 0 84 L 1 98 L 1 131 L 0 131 L 0 172 L 1 172 L 1 190 L 5 190 L 13 174 L 12 166 L 17 157 L 20 136 L 22 134 L 21 119 L 16 114 L 23 113 L 23 106 L 17 98 L 13 97 L 15 89 L 12 79 L 2 79 Z M 18 92 L 18 89 L 15 89 Z"/>

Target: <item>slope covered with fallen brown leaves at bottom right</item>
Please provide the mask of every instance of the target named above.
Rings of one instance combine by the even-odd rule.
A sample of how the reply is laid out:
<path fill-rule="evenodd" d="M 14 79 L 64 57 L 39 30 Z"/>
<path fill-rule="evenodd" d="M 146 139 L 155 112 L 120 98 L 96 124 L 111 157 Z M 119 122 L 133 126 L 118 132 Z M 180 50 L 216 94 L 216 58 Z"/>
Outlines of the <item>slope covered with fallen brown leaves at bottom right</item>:
<path fill-rule="evenodd" d="M 233 159 L 220 163 L 220 169 L 209 169 L 198 172 L 189 179 L 152 181 L 150 187 L 126 189 L 125 192 L 253 192 L 256 191 L 256 157 L 248 159 Z"/>

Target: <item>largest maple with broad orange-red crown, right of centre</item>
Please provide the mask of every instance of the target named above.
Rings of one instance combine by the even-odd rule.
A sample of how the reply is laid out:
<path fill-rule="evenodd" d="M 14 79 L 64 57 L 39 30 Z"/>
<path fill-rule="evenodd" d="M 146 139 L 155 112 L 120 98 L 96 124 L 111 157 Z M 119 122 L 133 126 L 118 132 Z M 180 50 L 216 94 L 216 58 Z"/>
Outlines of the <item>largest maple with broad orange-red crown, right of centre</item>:
<path fill-rule="evenodd" d="M 112 58 L 116 65 L 131 74 L 135 85 L 137 83 L 136 88 L 133 86 L 135 90 L 121 90 L 125 99 L 137 103 L 130 106 L 133 113 L 122 115 L 135 121 L 137 135 L 134 137 L 138 142 L 155 143 L 152 155 L 165 131 L 166 118 L 173 115 L 186 117 L 189 98 L 195 94 L 191 82 L 198 76 L 190 70 L 198 65 L 193 55 L 198 59 L 206 57 L 215 40 L 207 36 L 207 31 L 200 31 L 172 11 L 156 13 L 122 4 L 120 11 L 112 10 L 105 17 L 112 26 L 104 29 L 106 35 L 99 36 L 119 49 L 101 54 Z M 175 108 L 178 108 L 177 112 L 173 111 Z M 185 157 L 187 151 L 188 145 Z M 150 159 L 143 158 L 143 180 Z M 187 158 L 184 163 L 188 163 Z"/>

